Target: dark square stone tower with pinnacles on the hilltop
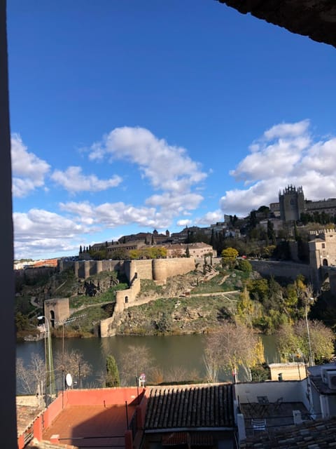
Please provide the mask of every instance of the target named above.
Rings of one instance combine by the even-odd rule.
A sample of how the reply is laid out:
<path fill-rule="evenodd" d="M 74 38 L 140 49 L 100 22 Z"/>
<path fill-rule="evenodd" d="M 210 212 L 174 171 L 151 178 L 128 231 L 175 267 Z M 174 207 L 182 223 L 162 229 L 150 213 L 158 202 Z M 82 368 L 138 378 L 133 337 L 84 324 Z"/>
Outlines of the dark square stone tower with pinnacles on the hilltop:
<path fill-rule="evenodd" d="M 292 185 L 279 192 L 280 217 L 284 222 L 300 220 L 304 212 L 304 194 L 302 187 Z"/>

